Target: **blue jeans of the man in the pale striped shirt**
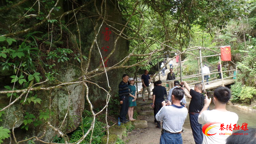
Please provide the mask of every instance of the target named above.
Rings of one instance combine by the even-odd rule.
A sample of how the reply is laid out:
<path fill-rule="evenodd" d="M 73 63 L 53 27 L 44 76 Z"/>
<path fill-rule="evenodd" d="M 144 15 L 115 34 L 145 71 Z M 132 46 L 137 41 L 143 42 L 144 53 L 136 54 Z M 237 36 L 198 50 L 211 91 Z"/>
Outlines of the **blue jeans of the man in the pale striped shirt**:
<path fill-rule="evenodd" d="M 160 144 L 182 144 L 181 134 L 162 132 Z"/>

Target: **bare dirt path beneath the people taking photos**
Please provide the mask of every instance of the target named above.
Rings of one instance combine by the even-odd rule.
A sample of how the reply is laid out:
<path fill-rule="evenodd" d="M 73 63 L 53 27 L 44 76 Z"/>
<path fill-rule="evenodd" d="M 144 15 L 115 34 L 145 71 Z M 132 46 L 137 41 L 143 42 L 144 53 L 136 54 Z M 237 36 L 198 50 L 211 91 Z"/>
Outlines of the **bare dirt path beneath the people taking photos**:
<path fill-rule="evenodd" d="M 148 106 L 148 104 L 144 106 Z M 161 129 L 156 128 L 156 123 L 154 123 L 154 115 L 147 115 L 147 116 L 140 115 L 137 117 L 137 119 L 146 120 L 148 128 L 135 129 L 131 132 L 128 132 L 127 138 L 124 140 L 125 143 L 126 144 L 159 144 Z M 184 131 L 182 132 L 183 144 L 195 144 L 194 138 L 192 135 L 192 130 L 190 128 L 188 116 L 185 120 L 185 124 L 183 127 L 184 127 L 183 128 Z"/>

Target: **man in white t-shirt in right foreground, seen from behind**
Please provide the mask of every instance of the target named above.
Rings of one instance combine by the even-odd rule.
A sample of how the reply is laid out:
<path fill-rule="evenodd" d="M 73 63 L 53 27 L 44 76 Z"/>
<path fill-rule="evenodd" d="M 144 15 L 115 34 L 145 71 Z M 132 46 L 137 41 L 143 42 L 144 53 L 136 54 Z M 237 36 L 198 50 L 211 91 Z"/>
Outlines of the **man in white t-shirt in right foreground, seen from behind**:
<path fill-rule="evenodd" d="M 214 90 L 213 103 L 215 109 L 208 111 L 211 98 L 207 96 L 204 100 L 204 107 L 198 116 L 198 123 L 203 125 L 202 144 L 225 144 L 226 139 L 236 127 L 238 115 L 226 110 L 226 104 L 231 97 L 231 92 L 227 87 L 218 87 Z"/>

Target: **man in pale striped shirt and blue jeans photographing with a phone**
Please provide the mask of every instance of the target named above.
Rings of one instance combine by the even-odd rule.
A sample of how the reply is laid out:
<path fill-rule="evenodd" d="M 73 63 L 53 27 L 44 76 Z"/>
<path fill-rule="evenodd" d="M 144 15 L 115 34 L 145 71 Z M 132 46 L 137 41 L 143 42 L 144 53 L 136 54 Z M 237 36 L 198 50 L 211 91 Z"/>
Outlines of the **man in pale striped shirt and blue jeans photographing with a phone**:
<path fill-rule="evenodd" d="M 182 144 L 182 126 L 187 117 L 187 108 L 181 106 L 180 101 L 184 96 L 184 90 L 174 88 L 172 91 L 172 105 L 170 101 L 162 102 L 162 108 L 156 114 L 156 120 L 163 119 L 163 129 L 160 144 Z M 167 106 L 166 106 L 167 105 Z"/>

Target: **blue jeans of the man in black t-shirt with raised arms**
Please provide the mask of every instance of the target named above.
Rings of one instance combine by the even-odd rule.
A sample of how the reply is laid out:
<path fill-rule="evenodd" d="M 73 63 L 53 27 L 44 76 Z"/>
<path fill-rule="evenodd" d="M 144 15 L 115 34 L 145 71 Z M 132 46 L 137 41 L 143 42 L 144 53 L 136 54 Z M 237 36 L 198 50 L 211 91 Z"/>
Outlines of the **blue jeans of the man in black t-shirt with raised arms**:
<path fill-rule="evenodd" d="M 198 123 L 199 113 L 189 114 L 189 122 L 192 129 L 193 137 L 196 144 L 202 144 L 203 141 L 203 132 L 202 125 Z"/>

